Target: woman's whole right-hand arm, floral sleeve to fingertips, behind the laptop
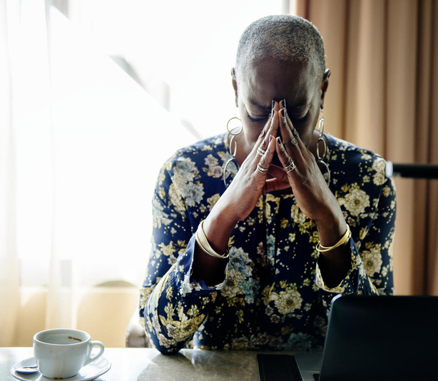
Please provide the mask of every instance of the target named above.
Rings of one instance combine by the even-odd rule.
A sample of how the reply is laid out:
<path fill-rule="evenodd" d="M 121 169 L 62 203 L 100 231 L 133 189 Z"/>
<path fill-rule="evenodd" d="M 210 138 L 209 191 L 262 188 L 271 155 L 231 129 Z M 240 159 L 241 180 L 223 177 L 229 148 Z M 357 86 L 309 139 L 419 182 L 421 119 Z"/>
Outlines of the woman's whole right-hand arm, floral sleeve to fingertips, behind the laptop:
<path fill-rule="evenodd" d="M 282 140 L 278 138 L 277 153 L 283 167 L 286 167 L 292 160 L 295 163 L 295 169 L 281 173 L 279 168 L 275 175 L 277 182 L 287 180 L 290 183 L 302 213 L 314 220 L 317 225 L 320 244 L 327 247 L 335 245 L 347 232 L 347 223 L 340 204 L 325 183 L 315 156 L 305 147 L 297 130 L 293 127 L 287 116 L 286 108 L 282 108 L 279 113 L 282 116 L 280 118 Z M 381 158 L 380 161 L 382 161 Z M 383 168 L 379 171 L 383 171 Z M 384 178 L 383 173 L 379 175 L 380 178 Z M 377 193 L 377 198 L 371 207 L 375 209 L 373 218 L 369 219 L 369 225 L 360 233 L 360 240 L 366 237 L 360 246 L 361 253 L 358 252 L 353 238 L 334 250 L 320 253 L 316 281 L 323 290 L 335 293 L 377 293 L 368 274 L 370 270 L 365 271 L 367 262 L 364 265 L 361 259 L 361 255 L 370 257 L 369 250 L 373 250 L 373 253 L 378 250 L 377 255 L 382 257 L 387 266 L 389 262 L 391 263 L 390 268 L 386 267 L 382 270 L 382 274 L 390 278 L 390 280 L 387 279 L 385 290 L 392 289 L 391 251 L 395 219 L 393 183 L 387 181 L 379 191 L 381 191 L 380 195 L 374 192 Z M 369 258 L 368 261 L 370 262 Z M 378 283 L 378 280 L 376 281 Z"/>

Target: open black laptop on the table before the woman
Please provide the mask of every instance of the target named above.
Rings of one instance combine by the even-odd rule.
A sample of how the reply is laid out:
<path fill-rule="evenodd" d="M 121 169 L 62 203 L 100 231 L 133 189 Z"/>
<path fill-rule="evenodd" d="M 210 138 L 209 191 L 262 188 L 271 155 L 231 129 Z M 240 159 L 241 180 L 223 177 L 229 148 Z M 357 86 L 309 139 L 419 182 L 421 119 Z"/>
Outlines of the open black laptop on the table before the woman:
<path fill-rule="evenodd" d="M 261 381 L 438 380 L 438 297 L 338 295 L 324 352 L 258 362 Z"/>

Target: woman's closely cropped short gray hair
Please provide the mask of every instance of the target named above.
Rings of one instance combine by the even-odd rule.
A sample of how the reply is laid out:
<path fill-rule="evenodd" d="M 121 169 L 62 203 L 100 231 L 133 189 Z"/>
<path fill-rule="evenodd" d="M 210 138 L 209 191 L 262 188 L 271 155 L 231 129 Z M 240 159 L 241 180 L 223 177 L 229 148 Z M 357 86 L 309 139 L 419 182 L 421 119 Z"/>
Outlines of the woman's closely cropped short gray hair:
<path fill-rule="evenodd" d="M 322 36 L 316 26 L 300 16 L 266 16 L 250 24 L 240 37 L 235 60 L 236 78 L 245 78 L 252 61 L 278 59 L 312 64 L 316 79 L 325 72 Z"/>

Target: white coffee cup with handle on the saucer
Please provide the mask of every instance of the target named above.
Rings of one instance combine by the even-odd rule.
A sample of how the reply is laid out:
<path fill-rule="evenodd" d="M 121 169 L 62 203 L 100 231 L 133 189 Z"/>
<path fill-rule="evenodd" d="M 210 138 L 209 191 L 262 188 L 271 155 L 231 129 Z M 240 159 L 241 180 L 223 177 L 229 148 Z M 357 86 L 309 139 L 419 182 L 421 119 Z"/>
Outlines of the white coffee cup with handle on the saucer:
<path fill-rule="evenodd" d="M 34 336 L 34 357 L 39 371 L 47 378 L 68 378 L 103 354 L 103 344 L 91 341 L 87 332 L 67 328 L 44 330 Z M 91 355 L 93 347 L 99 347 Z"/>

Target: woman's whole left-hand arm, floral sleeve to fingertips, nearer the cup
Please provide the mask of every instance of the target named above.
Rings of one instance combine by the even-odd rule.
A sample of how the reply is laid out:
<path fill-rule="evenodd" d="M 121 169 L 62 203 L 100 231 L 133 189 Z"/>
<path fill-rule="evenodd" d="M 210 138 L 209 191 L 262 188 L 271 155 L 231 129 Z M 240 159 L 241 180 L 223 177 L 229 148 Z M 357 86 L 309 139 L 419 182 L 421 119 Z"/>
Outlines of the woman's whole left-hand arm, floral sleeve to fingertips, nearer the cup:
<path fill-rule="evenodd" d="M 277 111 L 278 104 L 275 107 Z M 251 213 L 260 195 L 266 191 L 267 173 L 257 168 L 258 164 L 262 168 L 270 166 L 278 123 L 278 114 L 275 113 L 203 223 L 208 243 L 219 255 L 225 253 L 236 223 Z M 263 156 L 258 153 L 259 146 L 265 150 Z M 192 164 L 180 163 L 183 168 Z M 184 176 L 188 176 L 187 173 Z M 163 170 L 153 202 L 155 249 L 143 285 L 141 316 L 151 342 L 161 352 L 176 352 L 191 339 L 213 307 L 215 291 L 226 283 L 228 259 L 212 257 L 195 241 L 193 233 L 199 221 L 189 216 L 185 207 L 190 189 L 187 189 L 184 176 L 173 168 Z M 195 187 L 194 181 L 191 180 L 190 186 Z M 187 245 L 185 251 L 184 245 Z M 166 256 L 170 251 L 175 253 L 178 250 L 180 255 L 170 267 Z"/>

